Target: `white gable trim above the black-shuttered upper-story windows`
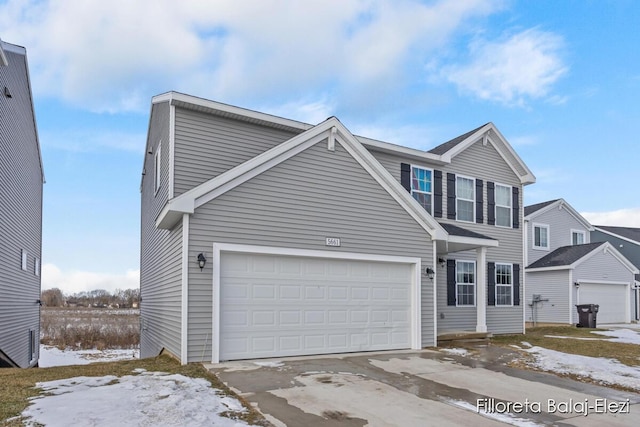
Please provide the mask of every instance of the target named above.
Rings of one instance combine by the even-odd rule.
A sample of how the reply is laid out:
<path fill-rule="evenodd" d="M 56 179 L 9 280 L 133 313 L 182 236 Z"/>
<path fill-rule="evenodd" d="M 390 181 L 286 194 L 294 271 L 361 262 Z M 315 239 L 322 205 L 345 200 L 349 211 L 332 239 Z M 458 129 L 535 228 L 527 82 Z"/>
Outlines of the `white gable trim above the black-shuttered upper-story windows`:
<path fill-rule="evenodd" d="M 493 135 L 495 135 L 495 137 L 498 139 L 500 143 L 494 141 L 494 137 L 492 133 Z M 464 141 L 460 142 L 459 144 L 456 144 L 455 147 L 451 148 L 449 151 L 447 151 L 441 156 L 442 160 L 446 163 L 451 163 L 455 156 L 462 153 L 464 150 L 466 150 L 471 145 L 473 145 L 474 143 L 478 142 L 481 139 L 483 143 L 487 143 L 487 142 L 491 143 L 493 148 L 496 149 L 498 154 L 500 154 L 500 157 L 502 157 L 505 163 L 511 168 L 513 173 L 518 178 L 520 178 L 521 184 L 526 185 L 526 184 L 533 184 L 534 182 L 536 182 L 536 177 L 533 175 L 533 172 L 531 172 L 531 170 L 527 167 L 527 165 L 522 161 L 520 156 L 518 156 L 518 154 L 513 150 L 513 147 L 511 147 L 511 145 L 507 142 L 505 137 L 500 133 L 498 128 L 496 128 L 496 126 L 493 123 L 487 123 L 485 126 L 478 129 L 472 135 L 468 136 Z M 516 159 L 516 162 L 518 163 L 518 165 L 526 172 L 524 175 L 521 172 L 518 172 L 515 165 L 508 159 L 507 155 L 504 152 L 505 150 L 508 151 L 508 153 L 511 156 L 513 156 L 514 159 Z"/>

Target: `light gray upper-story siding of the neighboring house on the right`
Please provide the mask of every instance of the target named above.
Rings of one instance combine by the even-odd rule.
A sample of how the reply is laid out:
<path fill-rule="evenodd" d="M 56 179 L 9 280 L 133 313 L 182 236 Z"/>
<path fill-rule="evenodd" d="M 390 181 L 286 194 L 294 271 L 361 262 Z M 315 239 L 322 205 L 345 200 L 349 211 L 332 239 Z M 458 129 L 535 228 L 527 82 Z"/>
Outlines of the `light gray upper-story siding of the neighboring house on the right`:
<path fill-rule="evenodd" d="M 549 226 L 549 250 L 533 249 L 533 224 Z M 585 232 L 585 243 L 591 241 L 589 231 L 566 209 L 553 208 L 527 221 L 527 263 L 533 264 L 540 258 L 562 246 L 570 246 L 571 230 Z"/>

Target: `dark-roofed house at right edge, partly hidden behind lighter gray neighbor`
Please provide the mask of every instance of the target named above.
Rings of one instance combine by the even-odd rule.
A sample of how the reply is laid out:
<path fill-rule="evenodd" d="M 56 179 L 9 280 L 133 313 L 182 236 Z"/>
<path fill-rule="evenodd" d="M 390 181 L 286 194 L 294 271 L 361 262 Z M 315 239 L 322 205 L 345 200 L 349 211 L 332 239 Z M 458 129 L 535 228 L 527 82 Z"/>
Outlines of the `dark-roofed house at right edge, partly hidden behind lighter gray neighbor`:
<path fill-rule="evenodd" d="M 640 228 L 611 227 L 608 225 L 596 225 L 591 232 L 591 241 L 607 241 L 613 245 L 622 255 L 640 269 Z M 636 301 L 635 318 L 640 320 L 640 274 L 636 274 Z"/>

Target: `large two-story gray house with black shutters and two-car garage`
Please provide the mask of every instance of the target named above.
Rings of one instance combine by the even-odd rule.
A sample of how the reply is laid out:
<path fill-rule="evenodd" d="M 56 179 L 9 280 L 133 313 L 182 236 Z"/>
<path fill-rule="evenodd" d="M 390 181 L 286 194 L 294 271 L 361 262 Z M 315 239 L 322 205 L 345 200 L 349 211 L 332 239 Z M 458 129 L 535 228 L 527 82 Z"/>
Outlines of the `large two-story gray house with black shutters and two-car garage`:
<path fill-rule="evenodd" d="M 182 363 L 522 333 L 522 189 L 488 123 L 431 151 L 189 95 L 153 98 L 141 353 Z"/>

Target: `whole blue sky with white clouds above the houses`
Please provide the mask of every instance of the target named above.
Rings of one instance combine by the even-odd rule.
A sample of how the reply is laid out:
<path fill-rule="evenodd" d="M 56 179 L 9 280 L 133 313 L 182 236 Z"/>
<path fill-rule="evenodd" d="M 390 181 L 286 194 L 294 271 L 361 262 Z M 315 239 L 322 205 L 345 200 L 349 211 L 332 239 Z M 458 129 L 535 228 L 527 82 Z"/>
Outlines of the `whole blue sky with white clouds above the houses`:
<path fill-rule="evenodd" d="M 176 90 L 415 148 L 492 121 L 595 224 L 640 227 L 640 3 L 0 1 L 47 183 L 43 289 L 138 284 L 151 97 Z"/>

